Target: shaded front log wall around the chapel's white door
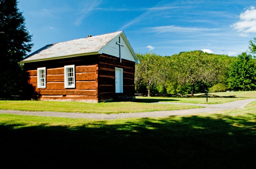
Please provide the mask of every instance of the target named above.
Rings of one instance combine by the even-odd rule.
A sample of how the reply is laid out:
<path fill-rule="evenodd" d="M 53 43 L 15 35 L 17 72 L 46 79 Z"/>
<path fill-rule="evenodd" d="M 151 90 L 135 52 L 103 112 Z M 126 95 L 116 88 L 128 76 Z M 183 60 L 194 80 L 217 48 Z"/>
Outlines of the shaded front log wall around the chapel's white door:
<path fill-rule="evenodd" d="M 131 99 L 134 97 L 134 71 L 135 62 L 102 54 L 99 55 L 98 64 L 98 99 L 99 101 L 111 101 Z M 116 93 L 115 68 L 123 69 L 123 93 Z"/>

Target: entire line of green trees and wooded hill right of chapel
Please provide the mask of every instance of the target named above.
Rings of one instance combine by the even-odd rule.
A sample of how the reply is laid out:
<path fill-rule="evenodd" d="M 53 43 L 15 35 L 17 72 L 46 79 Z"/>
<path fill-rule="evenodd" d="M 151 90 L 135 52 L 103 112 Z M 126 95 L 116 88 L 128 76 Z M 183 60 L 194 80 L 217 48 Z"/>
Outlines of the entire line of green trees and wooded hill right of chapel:
<path fill-rule="evenodd" d="M 256 38 L 249 41 L 248 53 L 237 57 L 204 53 L 180 52 L 172 56 L 137 53 L 135 90 L 147 94 L 190 94 L 226 90 L 256 89 Z"/>

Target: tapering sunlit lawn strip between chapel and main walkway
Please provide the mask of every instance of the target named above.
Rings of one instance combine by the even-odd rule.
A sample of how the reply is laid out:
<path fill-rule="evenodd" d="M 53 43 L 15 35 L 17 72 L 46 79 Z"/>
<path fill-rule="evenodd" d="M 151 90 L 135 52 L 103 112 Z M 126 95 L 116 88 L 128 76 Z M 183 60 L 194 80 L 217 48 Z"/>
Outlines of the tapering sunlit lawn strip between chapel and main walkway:
<path fill-rule="evenodd" d="M 53 101 L 0 101 L 0 109 L 22 111 L 60 111 L 81 113 L 134 113 L 160 110 L 202 108 L 202 106 L 161 105 L 142 102 L 53 102 Z"/>

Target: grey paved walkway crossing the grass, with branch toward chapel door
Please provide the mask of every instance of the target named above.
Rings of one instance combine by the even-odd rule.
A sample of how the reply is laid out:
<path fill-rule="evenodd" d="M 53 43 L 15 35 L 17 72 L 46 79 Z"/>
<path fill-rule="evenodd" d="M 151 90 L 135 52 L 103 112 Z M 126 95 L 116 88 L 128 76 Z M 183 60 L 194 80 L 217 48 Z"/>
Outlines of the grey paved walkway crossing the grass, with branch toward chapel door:
<path fill-rule="evenodd" d="M 49 112 L 49 111 L 19 111 L 19 110 L 0 110 L 1 114 L 16 114 L 16 115 L 33 115 L 33 116 L 48 116 L 48 117 L 68 117 L 68 118 L 86 118 L 86 119 L 118 119 L 129 117 L 163 117 L 173 115 L 186 115 L 203 112 L 216 112 L 227 109 L 244 108 L 248 103 L 256 101 L 256 99 L 238 100 L 223 104 L 194 104 L 194 103 L 172 103 L 172 102 L 156 102 L 149 104 L 182 104 L 182 105 L 198 105 L 206 108 L 199 109 L 184 109 L 170 111 L 152 111 L 140 113 L 119 113 L 119 114 L 97 114 L 97 113 L 65 113 L 65 112 Z M 160 105 L 159 105 L 160 106 Z"/>

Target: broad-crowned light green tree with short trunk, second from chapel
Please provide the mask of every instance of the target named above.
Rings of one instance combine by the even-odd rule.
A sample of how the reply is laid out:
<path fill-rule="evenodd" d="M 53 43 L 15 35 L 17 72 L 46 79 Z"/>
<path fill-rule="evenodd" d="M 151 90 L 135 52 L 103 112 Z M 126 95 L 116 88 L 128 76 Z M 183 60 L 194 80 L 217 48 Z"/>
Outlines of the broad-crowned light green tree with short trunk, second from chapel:
<path fill-rule="evenodd" d="M 226 62 L 218 59 L 215 54 L 203 51 L 174 54 L 170 59 L 174 65 L 176 81 L 183 86 L 189 84 L 191 96 L 194 96 L 196 84 L 205 86 L 217 82 L 226 67 Z"/>

